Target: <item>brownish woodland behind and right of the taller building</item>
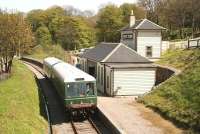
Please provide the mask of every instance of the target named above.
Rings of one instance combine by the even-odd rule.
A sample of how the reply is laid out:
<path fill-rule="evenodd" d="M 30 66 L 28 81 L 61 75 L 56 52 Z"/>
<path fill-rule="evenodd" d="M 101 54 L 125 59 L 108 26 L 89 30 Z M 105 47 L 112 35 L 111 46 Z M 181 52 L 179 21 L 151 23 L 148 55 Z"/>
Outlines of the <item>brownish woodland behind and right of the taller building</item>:
<path fill-rule="evenodd" d="M 200 36 L 199 0 L 139 0 L 147 18 L 168 28 L 169 39 Z"/>

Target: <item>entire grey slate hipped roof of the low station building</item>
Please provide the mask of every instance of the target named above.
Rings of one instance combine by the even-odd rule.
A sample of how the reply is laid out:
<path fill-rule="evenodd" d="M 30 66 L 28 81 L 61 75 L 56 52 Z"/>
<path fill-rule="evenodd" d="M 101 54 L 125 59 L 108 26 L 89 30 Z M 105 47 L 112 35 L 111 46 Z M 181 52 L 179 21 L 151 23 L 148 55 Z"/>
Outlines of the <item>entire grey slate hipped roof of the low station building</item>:
<path fill-rule="evenodd" d="M 101 43 L 80 57 L 102 63 L 152 63 L 122 43 Z"/>

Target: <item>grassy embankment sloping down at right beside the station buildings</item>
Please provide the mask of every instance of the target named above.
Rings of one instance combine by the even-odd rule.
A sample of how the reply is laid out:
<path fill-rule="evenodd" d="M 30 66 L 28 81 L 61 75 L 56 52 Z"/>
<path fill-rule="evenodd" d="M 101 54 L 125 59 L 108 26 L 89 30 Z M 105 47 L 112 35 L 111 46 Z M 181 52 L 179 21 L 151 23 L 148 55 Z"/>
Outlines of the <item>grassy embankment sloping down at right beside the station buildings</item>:
<path fill-rule="evenodd" d="M 182 127 L 199 131 L 200 50 L 168 51 L 158 63 L 178 68 L 182 72 L 139 98 L 139 102 Z"/>

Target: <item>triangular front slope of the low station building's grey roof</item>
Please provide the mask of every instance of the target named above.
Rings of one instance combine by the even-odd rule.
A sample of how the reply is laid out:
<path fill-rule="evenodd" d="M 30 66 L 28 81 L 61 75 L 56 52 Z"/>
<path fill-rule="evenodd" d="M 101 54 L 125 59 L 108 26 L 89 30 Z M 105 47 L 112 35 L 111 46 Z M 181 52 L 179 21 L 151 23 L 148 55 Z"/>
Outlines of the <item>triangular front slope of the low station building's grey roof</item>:
<path fill-rule="evenodd" d="M 152 63 L 147 58 L 139 55 L 133 49 L 120 45 L 104 62 L 107 63 Z"/>

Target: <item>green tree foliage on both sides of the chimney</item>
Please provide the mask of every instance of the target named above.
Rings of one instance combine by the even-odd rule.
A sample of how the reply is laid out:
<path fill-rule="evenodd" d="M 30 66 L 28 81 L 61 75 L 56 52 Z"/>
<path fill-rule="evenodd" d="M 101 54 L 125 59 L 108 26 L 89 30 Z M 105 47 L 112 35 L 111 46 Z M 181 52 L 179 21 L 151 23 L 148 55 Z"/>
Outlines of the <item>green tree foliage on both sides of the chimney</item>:
<path fill-rule="evenodd" d="M 120 7 L 106 5 L 97 14 L 98 41 L 119 42 L 120 29 L 129 23 L 130 13 L 133 10 L 137 19 L 144 18 L 145 11 L 135 4 L 122 4 Z"/>

